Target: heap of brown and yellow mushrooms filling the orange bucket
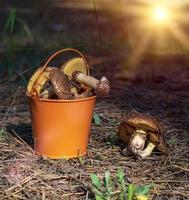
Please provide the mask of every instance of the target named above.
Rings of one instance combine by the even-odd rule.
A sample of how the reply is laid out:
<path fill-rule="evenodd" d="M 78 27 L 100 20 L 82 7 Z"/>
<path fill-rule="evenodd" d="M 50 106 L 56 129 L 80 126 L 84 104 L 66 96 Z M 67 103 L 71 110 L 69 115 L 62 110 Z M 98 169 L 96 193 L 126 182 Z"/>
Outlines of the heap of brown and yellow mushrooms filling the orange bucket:
<path fill-rule="evenodd" d="M 81 99 L 107 95 L 109 91 L 107 78 L 98 80 L 90 76 L 85 61 L 79 57 L 68 60 L 60 68 L 46 67 L 44 71 L 38 68 L 27 87 L 29 96 L 35 92 L 43 99 Z"/>

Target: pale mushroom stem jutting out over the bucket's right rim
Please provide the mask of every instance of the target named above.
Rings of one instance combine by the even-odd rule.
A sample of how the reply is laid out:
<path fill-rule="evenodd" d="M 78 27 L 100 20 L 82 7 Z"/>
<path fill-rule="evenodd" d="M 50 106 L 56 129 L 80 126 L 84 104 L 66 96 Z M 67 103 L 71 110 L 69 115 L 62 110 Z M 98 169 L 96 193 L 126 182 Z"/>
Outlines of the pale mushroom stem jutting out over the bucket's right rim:
<path fill-rule="evenodd" d="M 92 88 L 100 95 L 107 95 L 110 91 L 109 81 L 107 80 L 106 77 L 102 77 L 101 80 L 98 80 L 92 76 L 75 71 L 72 74 L 72 78 L 77 82 L 79 82 L 80 84 L 84 84 Z"/>

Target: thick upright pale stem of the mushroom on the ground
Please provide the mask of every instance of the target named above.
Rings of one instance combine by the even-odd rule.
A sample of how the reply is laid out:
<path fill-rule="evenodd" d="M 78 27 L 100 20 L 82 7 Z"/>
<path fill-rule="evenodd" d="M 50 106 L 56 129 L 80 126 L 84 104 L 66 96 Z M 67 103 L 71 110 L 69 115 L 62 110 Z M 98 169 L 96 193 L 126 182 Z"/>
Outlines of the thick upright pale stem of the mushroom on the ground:
<path fill-rule="evenodd" d="M 140 129 L 137 129 L 135 133 L 133 134 L 129 148 L 133 153 L 138 153 L 138 151 L 142 151 L 145 146 L 147 135 L 146 132 Z"/>

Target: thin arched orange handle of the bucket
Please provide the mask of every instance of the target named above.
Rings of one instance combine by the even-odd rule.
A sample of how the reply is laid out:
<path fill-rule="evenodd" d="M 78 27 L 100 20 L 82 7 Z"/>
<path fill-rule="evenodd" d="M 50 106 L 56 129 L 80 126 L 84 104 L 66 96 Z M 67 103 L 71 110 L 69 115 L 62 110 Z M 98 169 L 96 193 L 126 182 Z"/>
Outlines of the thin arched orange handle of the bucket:
<path fill-rule="evenodd" d="M 66 52 L 66 51 L 73 51 L 73 52 L 79 54 L 79 55 L 83 58 L 83 61 L 84 61 L 85 66 L 86 66 L 87 74 L 89 74 L 89 66 L 88 66 L 88 64 L 87 64 L 87 61 L 86 61 L 86 59 L 85 59 L 85 56 L 84 56 L 80 51 L 78 51 L 78 50 L 76 50 L 76 49 L 72 49 L 72 48 L 61 49 L 61 50 L 55 52 L 54 54 L 52 54 L 52 55 L 48 58 L 48 60 L 45 62 L 45 64 L 43 65 L 43 67 L 42 67 L 42 69 L 41 69 L 41 72 L 40 72 L 39 76 L 37 77 L 35 83 L 33 84 L 32 89 L 31 89 L 31 91 L 33 91 L 33 94 L 36 94 L 36 95 L 37 95 L 36 89 L 35 89 L 36 84 L 37 84 L 37 81 L 39 80 L 40 76 L 42 75 L 43 71 L 45 70 L 45 68 L 47 67 L 47 65 L 49 64 L 49 62 L 50 62 L 55 56 L 57 56 L 58 54 L 63 53 L 63 52 Z M 38 95 L 37 95 L 37 96 L 38 96 Z"/>

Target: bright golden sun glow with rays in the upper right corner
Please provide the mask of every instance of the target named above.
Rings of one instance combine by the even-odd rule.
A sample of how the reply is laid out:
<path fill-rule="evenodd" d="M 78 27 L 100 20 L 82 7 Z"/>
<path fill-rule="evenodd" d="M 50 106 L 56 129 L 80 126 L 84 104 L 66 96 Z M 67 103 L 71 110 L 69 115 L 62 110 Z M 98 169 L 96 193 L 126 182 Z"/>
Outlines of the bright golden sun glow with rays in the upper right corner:
<path fill-rule="evenodd" d="M 144 6 L 145 3 L 145 6 Z M 138 21 L 136 23 L 137 31 L 143 33 L 145 27 L 148 30 L 148 37 L 143 34 L 142 41 L 136 47 L 131 57 L 131 64 L 137 65 L 141 57 L 145 53 L 172 53 L 172 51 L 179 52 L 188 50 L 189 38 L 187 34 L 181 29 L 183 22 L 186 22 L 189 15 L 186 13 L 185 4 L 173 1 L 141 1 L 142 6 L 138 14 Z M 136 5 L 133 11 L 136 11 Z M 147 49 L 148 44 L 151 45 L 151 50 Z M 138 48 L 139 47 L 139 48 Z"/>

